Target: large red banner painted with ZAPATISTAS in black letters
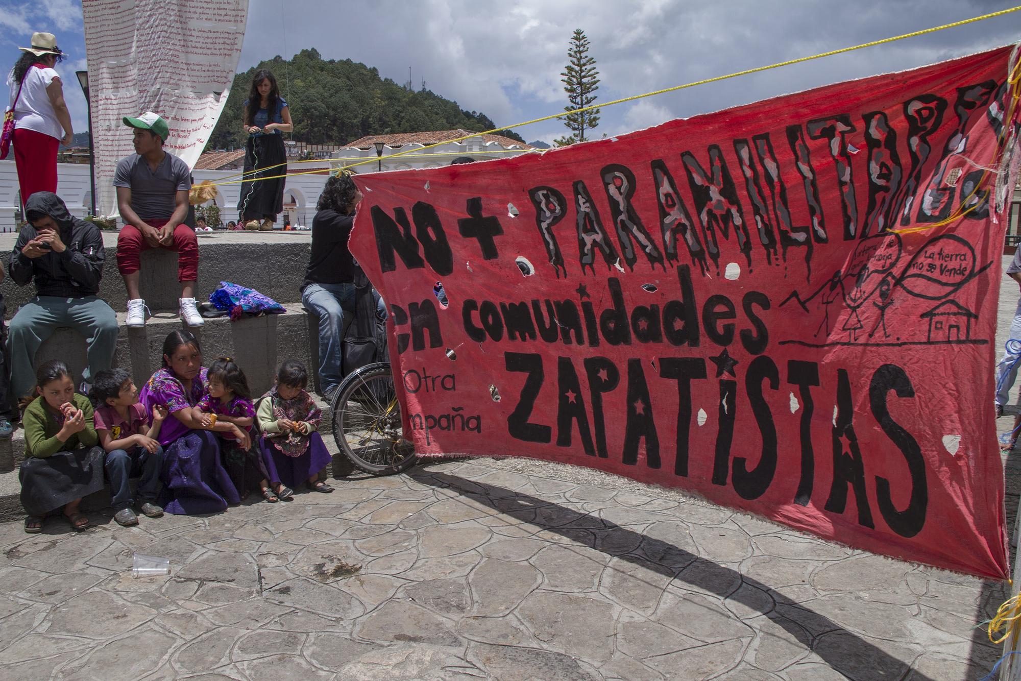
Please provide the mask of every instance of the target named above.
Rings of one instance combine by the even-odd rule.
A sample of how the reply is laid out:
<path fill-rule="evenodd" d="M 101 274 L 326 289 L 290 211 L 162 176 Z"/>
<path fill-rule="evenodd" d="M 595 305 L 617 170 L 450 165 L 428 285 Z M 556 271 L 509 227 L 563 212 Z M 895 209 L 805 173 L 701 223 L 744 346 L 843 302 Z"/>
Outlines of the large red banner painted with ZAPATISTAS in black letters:
<path fill-rule="evenodd" d="M 405 436 L 1005 578 L 992 368 L 1013 184 L 985 168 L 1017 130 L 1009 59 L 357 178 L 351 250 L 391 311 Z"/>

